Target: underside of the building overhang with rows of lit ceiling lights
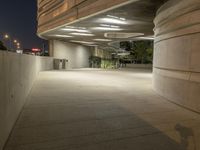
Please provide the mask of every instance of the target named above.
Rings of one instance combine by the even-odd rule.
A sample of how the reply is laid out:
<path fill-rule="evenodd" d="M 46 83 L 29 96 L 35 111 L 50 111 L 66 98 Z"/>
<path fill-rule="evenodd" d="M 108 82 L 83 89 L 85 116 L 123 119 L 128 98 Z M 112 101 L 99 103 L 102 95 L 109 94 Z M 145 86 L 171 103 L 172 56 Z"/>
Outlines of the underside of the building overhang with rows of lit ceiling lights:
<path fill-rule="evenodd" d="M 86 46 L 115 47 L 116 42 L 153 36 L 153 19 L 165 0 L 140 0 L 43 35 Z"/>

